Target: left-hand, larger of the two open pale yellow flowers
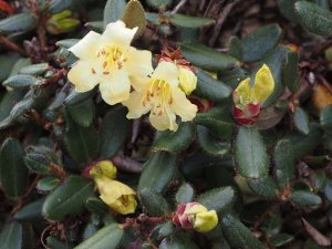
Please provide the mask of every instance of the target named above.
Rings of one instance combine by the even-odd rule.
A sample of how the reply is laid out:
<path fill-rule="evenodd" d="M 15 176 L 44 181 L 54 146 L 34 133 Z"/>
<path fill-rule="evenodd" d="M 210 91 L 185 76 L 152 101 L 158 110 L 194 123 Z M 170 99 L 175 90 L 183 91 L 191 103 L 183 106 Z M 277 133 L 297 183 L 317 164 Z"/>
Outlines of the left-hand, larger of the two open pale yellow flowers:
<path fill-rule="evenodd" d="M 77 92 L 100 84 L 103 100 L 114 105 L 129 97 L 131 82 L 153 72 L 152 53 L 131 46 L 137 28 L 127 29 L 123 21 L 107 24 L 103 34 L 89 32 L 70 48 L 80 60 L 68 77 Z"/>

